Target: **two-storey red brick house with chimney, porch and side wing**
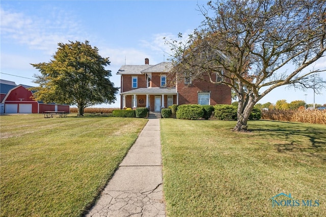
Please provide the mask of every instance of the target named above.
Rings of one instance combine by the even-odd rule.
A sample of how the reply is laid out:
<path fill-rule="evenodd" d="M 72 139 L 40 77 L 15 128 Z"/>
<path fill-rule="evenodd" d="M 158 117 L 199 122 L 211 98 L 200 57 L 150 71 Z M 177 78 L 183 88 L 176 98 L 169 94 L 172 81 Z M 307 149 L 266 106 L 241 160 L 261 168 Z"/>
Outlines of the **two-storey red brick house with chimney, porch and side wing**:
<path fill-rule="evenodd" d="M 148 107 L 160 111 L 173 104 L 231 104 L 231 88 L 227 85 L 187 79 L 168 86 L 171 68 L 170 62 L 149 65 L 148 58 L 145 65 L 122 66 L 117 72 L 121 75 L 121 109 Z"/>

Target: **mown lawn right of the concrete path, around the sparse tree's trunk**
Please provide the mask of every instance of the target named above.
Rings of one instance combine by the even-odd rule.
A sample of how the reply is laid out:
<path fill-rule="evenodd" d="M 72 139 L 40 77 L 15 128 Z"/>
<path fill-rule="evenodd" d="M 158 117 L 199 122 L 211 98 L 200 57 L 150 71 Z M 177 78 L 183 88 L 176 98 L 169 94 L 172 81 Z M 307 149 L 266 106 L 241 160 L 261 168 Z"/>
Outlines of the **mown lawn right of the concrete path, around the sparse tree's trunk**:
<path fill-rule="evenodd" d="M 324 216 L 326 126 L 250 121 L 238 133 L 235 123 L 161 119 L 168 216 Z M 300 206 L 273 208 L 279 193 Z"/>

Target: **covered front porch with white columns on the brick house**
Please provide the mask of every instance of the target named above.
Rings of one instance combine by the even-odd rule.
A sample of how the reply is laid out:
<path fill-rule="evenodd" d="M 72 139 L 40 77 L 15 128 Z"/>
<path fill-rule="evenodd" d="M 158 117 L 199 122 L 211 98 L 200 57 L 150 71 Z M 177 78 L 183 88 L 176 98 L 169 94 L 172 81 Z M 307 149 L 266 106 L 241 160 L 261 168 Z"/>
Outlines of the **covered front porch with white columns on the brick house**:
<path fill-rule="evenodd" d="M 121 109 L 147 107 L 150 111 L 161 111 L 173 104 L 178 104 L 176 88 L 138 88 L 121 94 Z"/>

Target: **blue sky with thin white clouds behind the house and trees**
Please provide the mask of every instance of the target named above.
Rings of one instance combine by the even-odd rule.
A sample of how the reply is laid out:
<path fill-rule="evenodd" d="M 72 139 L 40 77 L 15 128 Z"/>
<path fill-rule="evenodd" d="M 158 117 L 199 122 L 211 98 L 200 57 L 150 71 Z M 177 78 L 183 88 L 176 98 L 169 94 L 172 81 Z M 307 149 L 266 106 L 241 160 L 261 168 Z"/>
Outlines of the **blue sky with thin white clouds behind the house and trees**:
<path fill-rule="evenodd" d="M 39 72 L 31 63 L 52 59 L 59 42 L 88 40 L 99 49 L 101 56 L 110 58 L 111 65 L 107 67 L 113 75 L 110 80 L 120 86 L 116 72 L 125 63 L 142 65 L 144 59 L 149 58 L 154 65 L 167 60 L 170 47 L 163 38 L 177 39 L 178 33 L 191 33 L 204 19 L 197 5 L 206 2 L 2 0 L 0 77 L 16 84 L 35 86 L 33 75 Z M 326 58 L 320 59 L 315 67 L 326 69 Z M 326 80 L 325 73 L 321 76 Z M 279 87 L 259 103 L 276 103 L 283 99 L 290 103 L 306 100 L 306 97 L 308 104 L 313 103 L 313 90 Z M 322 95 L 315 95 L 315 103 L 326 103 L 326 90 Z M 119 105 L 117 101 L 98 107 Z"/>

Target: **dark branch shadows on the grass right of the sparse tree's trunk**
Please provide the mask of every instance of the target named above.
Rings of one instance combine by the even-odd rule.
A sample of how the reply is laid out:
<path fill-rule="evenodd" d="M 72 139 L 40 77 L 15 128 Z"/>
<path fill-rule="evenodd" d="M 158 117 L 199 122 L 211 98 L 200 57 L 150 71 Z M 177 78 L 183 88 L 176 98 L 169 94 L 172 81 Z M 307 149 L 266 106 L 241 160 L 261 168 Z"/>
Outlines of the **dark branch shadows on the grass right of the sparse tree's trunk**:
<path fill-rule="evenodd" d="M 255 125 L 251 132 L 275 139 L 274 146 L 279 152 L 302 152 L 326 161 L 325 130 L 326 128 L 308 126 L 304 123 L 264 121 L 263 125 Z"/>

